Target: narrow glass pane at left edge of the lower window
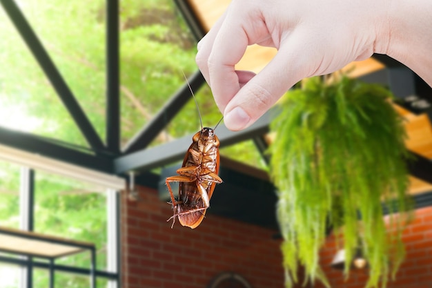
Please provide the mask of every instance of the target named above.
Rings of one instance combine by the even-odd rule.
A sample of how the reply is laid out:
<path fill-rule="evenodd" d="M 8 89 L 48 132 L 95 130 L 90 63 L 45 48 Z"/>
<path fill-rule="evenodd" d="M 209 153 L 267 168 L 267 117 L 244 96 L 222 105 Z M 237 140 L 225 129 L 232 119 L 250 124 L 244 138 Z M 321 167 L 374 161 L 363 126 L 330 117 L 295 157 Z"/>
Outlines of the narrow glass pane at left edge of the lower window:
<path fill-rule="evenodd" d="M 0 161 L 0 226 L 19 228 L 20 167 Z"/>

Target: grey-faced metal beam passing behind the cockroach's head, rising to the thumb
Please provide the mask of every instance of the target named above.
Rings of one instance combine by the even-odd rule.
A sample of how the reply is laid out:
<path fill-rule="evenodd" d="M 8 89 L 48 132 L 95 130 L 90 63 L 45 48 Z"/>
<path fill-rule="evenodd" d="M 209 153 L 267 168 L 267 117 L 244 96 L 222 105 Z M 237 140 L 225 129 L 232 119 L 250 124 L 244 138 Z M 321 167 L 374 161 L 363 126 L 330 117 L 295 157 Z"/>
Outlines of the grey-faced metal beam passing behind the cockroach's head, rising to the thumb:
<path fill-rule="evenodd" d="M 239 132 L 229 131 L 223 124 L 219 125 L 216 133 L 221 146 L 229 146 L 267 133 L 268 125 L 277 114 L 277 111 L 276 108 L 271 109 L 271 111 L 259 118 L 255 124 Z M 147 148 L 120 156 L 114 161 L 115 173 L 121 174 L 133 170 L 146 171 L 182 160 L 192 142 L 192 136 L 182 137 L 179 140 L 154 148 Z"/>

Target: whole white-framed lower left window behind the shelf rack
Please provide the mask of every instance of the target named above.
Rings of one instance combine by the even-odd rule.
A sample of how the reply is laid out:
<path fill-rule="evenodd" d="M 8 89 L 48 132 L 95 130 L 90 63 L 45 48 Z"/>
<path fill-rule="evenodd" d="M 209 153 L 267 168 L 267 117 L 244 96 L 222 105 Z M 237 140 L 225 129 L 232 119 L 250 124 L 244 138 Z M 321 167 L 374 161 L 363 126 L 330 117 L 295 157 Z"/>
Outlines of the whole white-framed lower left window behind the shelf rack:
<path fill-rule="evenodd" d="M 61 175 L 35 171 L 32 177 L 26 177 L 29 169 L 1 162 L 0 166 L 0 185 L 4 190 L 0 193 L 0 226 L 18 228 L 28 221 L 28 227 L 37 233 L 94 243 L 97 287 L 117 287 L 117 193 Z M 48 260 L 32 258 L 30 278 L 26 277 L 28 261 L 12 253 L 1 253 L 0 288 L 26 287 L 26 281 L 32 281 L 32 287 L 48 287 Z M 56 287 L 88 287 L 90 263 L 88 252 L 55 260 L 55 265 L 61 267 L 55 272 Z"/>

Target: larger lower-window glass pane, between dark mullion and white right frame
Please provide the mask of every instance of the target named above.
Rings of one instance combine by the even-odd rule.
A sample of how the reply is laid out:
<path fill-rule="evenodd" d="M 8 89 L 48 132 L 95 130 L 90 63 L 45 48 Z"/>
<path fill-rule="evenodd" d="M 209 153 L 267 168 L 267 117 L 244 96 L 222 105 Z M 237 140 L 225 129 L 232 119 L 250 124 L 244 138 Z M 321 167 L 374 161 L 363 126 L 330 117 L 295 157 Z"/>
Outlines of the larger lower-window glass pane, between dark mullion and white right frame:
<path fill-rule="evenodd" d="M 97 269 L 104 270 L 106 225 L 104 189 L 41 171 L 35 173 L 35 231 L 96 244 Z M 89 268 L 90 252 L 60 258 L 56 264 Z"/>

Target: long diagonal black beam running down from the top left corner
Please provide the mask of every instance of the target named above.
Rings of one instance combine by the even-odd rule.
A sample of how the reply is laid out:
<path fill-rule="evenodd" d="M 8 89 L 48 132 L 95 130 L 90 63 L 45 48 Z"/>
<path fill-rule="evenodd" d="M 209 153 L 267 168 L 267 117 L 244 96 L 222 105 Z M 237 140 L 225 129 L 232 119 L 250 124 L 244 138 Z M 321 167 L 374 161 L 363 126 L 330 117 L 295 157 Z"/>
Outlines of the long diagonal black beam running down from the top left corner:
<path fill-rule="evenodd" d="M 79 127 L 81 133 L 83 133 L 88 144 L 90 144 L 95 151 L 104 150 L 105 147 L 101 138 L 86 117 L 81 106 L 79 106 L 77 99 L 75 99 L 72 91 L 66 84 L 66 81 L 64 81 L 63 77 L 60 75 L 59 70 L 57 70 L 57 67 L 48 55 L 48 52 L 46 52 L 46 49 L 43 47 L 36 33 L 30 27 L 26 17 L 24 17 L 21 10 L 19 10 L 17 4 L 13 0 L 1 0 L 1 5 L 10 17 L 12 23 L 14 23 L 14 26 L 17 28 L 23 40 L 26 42 L 28 48 L 39 63 L 39 66 L 41 66 L 46 77 L 48 77 L 52 86 L 57 91 L 61 101 L 75 120 L 75 123 Z"/>

